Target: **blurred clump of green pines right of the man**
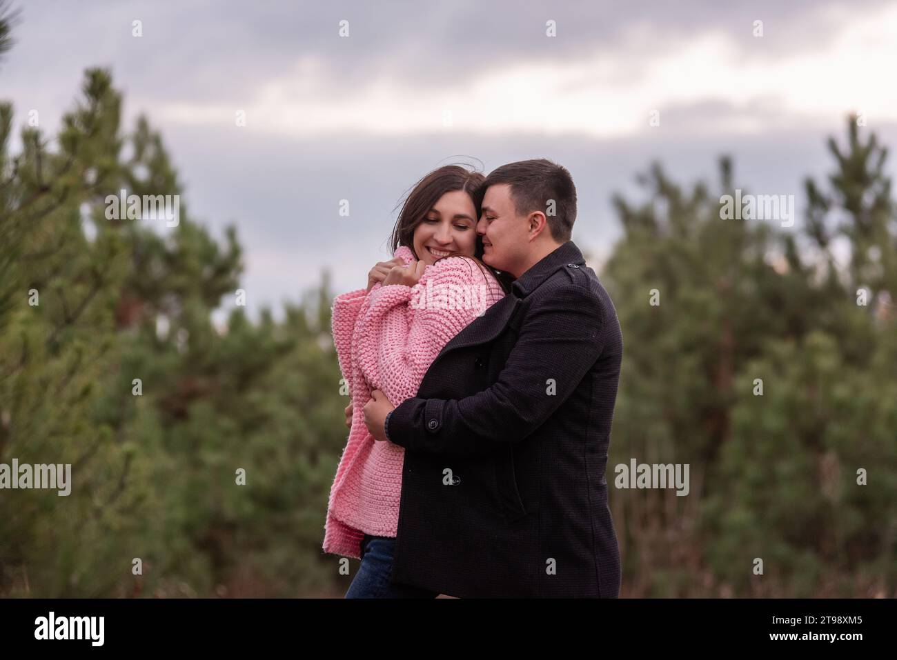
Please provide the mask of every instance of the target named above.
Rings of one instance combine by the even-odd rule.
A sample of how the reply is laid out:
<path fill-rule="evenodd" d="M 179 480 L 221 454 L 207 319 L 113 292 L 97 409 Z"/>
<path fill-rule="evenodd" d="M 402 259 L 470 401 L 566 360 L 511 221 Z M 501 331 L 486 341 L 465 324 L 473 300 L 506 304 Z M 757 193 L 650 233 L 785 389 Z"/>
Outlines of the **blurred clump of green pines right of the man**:
<path fill-rule="evenodd" d="M 615 199 L 624 235 L 602 279 L 625 355 L 610 465 L 691 468 L 688 497 L 612 494 L 631 595 L 894 594 L 897 333 L 856 291 L 891 300 L 897 244 L 885 152 L 852 118 L 848 139 L 844 153 L 830 142 L 832 189 L 807 183 L 800 232 L 724 220 L 727 159 L 719 195 L 655 166 L 649 202 Z"/>

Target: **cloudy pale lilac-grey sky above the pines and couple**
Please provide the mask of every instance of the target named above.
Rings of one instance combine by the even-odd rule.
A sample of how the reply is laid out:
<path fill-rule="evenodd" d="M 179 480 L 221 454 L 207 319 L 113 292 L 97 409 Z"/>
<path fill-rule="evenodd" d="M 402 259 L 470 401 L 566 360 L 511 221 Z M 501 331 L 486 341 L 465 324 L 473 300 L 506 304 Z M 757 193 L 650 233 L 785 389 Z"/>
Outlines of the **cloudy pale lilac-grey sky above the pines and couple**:
<path fill-rule="evenodd" d="M 620 235 L 611 195 L 638 198 L 650 161 L 711 181 L 732 154 L 739 187 L 795 194 L 799 211 L 847 113 L 897 143 L 894 3 L 13 6 L 0 98 L 17 123 L 37 109 L 55 135 L 83 70 L 108 66 L 125 126 L 145 114 L 161 131 L 191 215 L 216 236 L 237 225 L 254 310 L 297 300 L 324 269 L 336 292 L 363 286 L 389 257 L 396 204 L 440 164 L 562 163 L 579 191 L 573 239 L 600 259 Z"/>

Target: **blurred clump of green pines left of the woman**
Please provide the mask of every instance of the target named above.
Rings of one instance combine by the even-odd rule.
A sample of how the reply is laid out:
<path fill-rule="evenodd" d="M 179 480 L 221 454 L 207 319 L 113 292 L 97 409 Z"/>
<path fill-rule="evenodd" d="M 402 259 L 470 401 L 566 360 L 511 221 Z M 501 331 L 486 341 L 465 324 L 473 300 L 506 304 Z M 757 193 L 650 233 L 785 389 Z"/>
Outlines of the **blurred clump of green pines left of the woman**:
<path fill-rule="evenodd" d="M 320 552 L 344 443 L 327 282 L 283 323 L 234 306 L 215 326 L 236 231 L 219 244 L 186 204 L 168 231 L 109 219 L 120 189 L 182 194 L 161 136 L 144 118 L 122 134 L 120 109 L 90 70 L 58 151 L 26 128 L 13 155 L 0 106 L 0 462 L 71 463 L 74 482 L 0 500 L 0 593 L 342 589 Z"/>

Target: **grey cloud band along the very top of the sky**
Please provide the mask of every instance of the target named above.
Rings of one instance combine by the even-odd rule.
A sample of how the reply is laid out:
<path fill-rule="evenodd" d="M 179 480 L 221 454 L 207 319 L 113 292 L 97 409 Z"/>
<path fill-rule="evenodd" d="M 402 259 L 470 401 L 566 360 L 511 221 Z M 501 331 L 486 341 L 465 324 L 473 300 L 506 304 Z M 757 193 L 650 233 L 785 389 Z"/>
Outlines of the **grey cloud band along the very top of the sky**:
<path fill-rule="evenodd" d="M 439 4 L 267 4 L 194 2 L 60 3 L 22 5 L 19 41 L 0 71 L 4 87 L 65 89 L 84 67 L 110 65 L 118 81 L 142 100 L 234 100 L 259 82 L 288 74 L 302 56 L 319 58 L 335 91 L 388 74 L 408 83 L 450 83 L 485 65 L 521 58 L 562 65 L 594 48 L 618 48 L 628 30 L 649 25 L 650 42 L 625 51 L 633 64 L 661 53 L 666 41 L 722 30 L 753 57 L 824 44 L 834 27 L 818 20 L 830 4 L 773 0 L 749 6 L 716 2 L 562 3 L 460 0 Z M 863 12 L 880 0 L 853 0 Z M 131 36 L 131 22 L 144 36 Z M 350 21 L 352 36 L 337 37 Z M 544 37 L 547 19 L 558 38 Z M 762 47 L 751 37 L 765 23 Z M 668 45 L 668 44 L 667 44 Z M 53 102 L 64 99 L 54 96 Z"/>

